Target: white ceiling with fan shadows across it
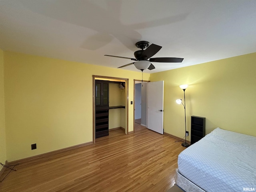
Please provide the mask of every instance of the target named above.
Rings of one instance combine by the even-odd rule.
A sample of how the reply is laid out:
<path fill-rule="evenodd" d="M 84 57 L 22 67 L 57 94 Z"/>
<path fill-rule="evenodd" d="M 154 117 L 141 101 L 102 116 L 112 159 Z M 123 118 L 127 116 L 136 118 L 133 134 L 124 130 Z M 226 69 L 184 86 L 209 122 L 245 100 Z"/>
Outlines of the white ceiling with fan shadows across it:
<path fill-rule="evenodd" d="M 117 68 L 131 61 L 104 54 L 140 40 L 184 58 L 146 73 L 256 52 L 256 0 L 0 0 L 2 50 Z"/>

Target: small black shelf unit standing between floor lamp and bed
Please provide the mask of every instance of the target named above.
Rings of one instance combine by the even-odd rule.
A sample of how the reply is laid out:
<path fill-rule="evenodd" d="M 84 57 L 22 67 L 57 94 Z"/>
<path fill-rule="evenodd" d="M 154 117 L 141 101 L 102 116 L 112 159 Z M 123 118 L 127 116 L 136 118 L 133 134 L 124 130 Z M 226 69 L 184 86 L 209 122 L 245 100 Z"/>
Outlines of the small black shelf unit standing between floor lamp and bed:
<path fill-rule="evenodd" d="M 191 116 L 191 144 L 205 136 L 205 117 Z"/>

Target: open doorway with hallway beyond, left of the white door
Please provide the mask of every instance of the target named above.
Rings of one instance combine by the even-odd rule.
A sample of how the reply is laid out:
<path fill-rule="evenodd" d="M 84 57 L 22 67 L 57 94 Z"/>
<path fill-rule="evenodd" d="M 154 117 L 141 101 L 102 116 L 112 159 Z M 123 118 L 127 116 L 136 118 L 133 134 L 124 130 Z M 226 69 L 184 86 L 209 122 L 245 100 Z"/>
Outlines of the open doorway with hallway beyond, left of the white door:
<path fill-rule="evenodd" d="M 147 87 L 149 81 L 134 80 L 134 128 L 135 125 L 147 127 Z M 142 86 L 143 85 L 143 86 Z"/>

